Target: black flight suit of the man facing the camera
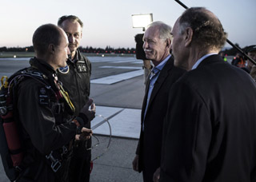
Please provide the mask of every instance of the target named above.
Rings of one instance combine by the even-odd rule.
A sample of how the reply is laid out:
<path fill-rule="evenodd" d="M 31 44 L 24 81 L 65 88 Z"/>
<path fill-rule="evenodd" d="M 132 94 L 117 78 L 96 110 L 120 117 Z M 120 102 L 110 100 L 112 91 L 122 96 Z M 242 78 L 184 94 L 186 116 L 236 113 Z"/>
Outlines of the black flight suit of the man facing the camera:
<path fill-rule="evenodd" d="M 74 59 L 67 61 L 66 68 L 58 69 L 58 80 L 62 81 L 63 88 L 70 95 L 75 107 L 74 116 L 78 116 L 80 109 L 89 100 L 91 64 L 77 50 Z M 85 126 L 90 129 L 90 122 Z M 74 155 L 70 164 L 70 181 L 90 181 L 91 139 L 75 141 Z"/>

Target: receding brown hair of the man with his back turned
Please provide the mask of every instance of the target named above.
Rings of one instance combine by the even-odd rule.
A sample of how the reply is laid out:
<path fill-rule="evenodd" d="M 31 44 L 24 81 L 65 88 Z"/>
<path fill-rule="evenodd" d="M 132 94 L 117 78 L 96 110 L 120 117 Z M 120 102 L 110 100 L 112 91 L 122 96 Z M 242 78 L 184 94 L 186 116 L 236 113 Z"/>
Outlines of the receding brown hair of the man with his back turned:
<path fill-rule="evenodd" d="M 227 34 L 222 23 L 214 14 L 203 7 L 193 7 L 186 10 L 179 18 L 180 34 L 187 27 L 193 30 L 192 42 L 202 48 L 222 49 L 225 45 Z"/>

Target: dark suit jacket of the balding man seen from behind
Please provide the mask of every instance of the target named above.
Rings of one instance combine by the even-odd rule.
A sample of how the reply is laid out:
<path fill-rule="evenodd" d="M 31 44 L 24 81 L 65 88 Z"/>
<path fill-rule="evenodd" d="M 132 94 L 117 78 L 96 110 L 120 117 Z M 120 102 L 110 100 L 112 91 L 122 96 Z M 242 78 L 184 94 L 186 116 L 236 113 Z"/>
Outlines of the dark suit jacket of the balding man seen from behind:
<path fill-rule="evenodd" d="M 212 55 L 170 90 L 164 122 L 161 182 L 253 181 L 256 85 Z"/>

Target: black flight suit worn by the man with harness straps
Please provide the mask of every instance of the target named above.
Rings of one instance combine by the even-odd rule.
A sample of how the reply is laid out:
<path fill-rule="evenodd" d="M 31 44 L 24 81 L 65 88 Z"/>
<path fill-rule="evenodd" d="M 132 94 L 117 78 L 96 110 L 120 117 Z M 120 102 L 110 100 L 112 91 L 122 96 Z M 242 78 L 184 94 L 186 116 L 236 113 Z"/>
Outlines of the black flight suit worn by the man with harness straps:
<path fill-rule="evenodd" d="M 14 116 L 18 117 L 22 128 L 22 166 L 25 167 L 18 181 L 63 181 L 60 178 L 65 176 L 63 171 L 67 171 L 65 157 L 62 168 L 53 172 L 46 155 L 51 151 L 63 154 L 62 146 L 74 140 L 77 127 L 74 122 L 63 120 L 64 101 L 56 97 L 60 95 L 54 83 L 54 69 L 37 58 L 31 59 L 30 65 L 27 70 L 43 73 L 44 79 L 23 77 L 17 85 L 17 113 Z"/>

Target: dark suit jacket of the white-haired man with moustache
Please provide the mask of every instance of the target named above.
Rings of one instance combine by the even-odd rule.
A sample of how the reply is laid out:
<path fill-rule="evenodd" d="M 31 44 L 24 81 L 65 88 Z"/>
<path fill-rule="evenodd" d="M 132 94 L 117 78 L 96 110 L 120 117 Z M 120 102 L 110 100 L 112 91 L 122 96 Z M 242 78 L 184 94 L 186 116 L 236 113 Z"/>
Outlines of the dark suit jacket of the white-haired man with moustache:
<path fill-rule="evenodd" d="M 144 122 L 144 132 L 141 130 L 138 142 L 137 154 L 139 155 L 139 171 L 149 172 L 152 177 L 154 171 L 160 167 L 161 145 L 162 145 L 162 124 L 166 116 L 167 97 L 170 86 L 181 77 L 185 70 L 174 67 L 172 57 L 166 62 L 159 73 L 158 80 L 150 96 L 148 109 Z M 146 93 L 142 105 L 142 121 L 146 109 L 146 100 L 149 81 L 147 81 Z M 144 163 L 143 163 L 144 160 Z M 144 165 L 143 165 L 144 164 Z M 151 178 L 152 179 L 152 178 Z"/>

